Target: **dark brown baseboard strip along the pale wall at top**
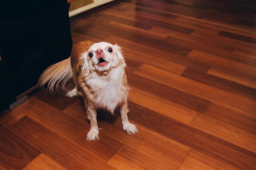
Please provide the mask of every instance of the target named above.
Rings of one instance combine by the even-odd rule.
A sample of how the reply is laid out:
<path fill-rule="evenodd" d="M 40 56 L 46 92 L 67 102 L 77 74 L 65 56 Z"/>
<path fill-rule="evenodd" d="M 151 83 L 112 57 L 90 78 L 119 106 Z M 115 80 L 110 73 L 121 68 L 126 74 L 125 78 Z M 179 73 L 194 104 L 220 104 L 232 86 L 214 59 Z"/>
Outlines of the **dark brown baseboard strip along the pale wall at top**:
<path fill-rule="evenodd" d="M 77 14 L 75 16 L 70 17 L 70 23 L 73 23 L 73 22 L 75 22 L 77 20 L 80 20 L 83 17 L 90 16 L 92 14 L 95 14 L 95 13 L 99 12 L 99 11 L 102 11 L 105 8 L 108 8 L 110 6 L 114 6 L 114 5 L 122 3 L 124 1 L 126 1 L 126 0 L 113 0 L 111 2 L 102 4 L 101 6 L 97 6 L 95 8 L 89 9 L 88 11 L 84 11 L 81 14 Z"/>

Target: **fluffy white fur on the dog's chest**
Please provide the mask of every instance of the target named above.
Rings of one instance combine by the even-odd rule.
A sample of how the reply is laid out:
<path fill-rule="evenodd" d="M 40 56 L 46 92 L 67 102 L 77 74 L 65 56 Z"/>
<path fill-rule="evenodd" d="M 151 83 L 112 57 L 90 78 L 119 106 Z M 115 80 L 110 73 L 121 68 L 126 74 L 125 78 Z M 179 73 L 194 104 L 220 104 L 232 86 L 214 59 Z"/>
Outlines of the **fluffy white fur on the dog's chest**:
<path fill-rule="evenodd" d="M 93 87 L 92 101 L 99 108 L 107 108 L 112 113 L 117 105 L 122 102 L 125 96 L 126 87 L 123 85 L 123 71 L 111 70 L 105 76 L 92 74 L 86 79 L 87 85 Z"/>

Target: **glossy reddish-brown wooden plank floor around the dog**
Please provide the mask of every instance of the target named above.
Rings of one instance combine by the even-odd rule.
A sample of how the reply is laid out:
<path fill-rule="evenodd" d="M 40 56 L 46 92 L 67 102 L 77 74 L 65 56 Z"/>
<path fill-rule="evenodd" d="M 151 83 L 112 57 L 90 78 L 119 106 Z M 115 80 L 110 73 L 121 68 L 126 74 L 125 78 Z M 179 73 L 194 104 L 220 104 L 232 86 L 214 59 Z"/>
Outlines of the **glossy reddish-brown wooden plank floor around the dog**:
<path fill-rule="evenodd" d="M 256 170 L 256 3 L 131 0 L 71 24 L 73 42 L 122 46 L 129 136 L 80 98 L 36 91 L 0 115 L 0 169 Z"/>

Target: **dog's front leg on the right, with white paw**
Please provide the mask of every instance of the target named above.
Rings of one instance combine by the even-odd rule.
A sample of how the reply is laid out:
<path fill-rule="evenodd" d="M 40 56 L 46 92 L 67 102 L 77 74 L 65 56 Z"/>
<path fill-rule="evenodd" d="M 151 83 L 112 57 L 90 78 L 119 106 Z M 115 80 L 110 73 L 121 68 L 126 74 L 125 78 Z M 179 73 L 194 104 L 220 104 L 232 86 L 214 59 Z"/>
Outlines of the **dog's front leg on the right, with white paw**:
<path fill-rule="evenodd" d="M 137 127 L 134 124 L 131 124 L 128 120 L 127 101 L 125 101 L 121 104 L 120 113 L 121 113 L 121 118 L 122 118 L 123 129 L 130 135 L 138 132 Z"/>

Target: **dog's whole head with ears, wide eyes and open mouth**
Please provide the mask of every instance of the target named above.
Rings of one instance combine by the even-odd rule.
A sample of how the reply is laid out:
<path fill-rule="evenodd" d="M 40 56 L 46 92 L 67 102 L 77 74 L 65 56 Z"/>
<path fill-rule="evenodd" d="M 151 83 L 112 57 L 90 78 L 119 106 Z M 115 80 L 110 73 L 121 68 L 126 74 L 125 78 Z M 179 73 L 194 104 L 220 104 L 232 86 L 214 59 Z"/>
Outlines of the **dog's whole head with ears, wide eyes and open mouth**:
<path fill-rule="evenodd" d="M 104 72 L 120 65 L 125 66 L 125 60 L 122 56 L 121 48 L 118 45 L 112 45 L 108 42 L 94 43 L 82 55 L 84 59 L 84 69 L 90 71 Z M 85 63 L 87 62 L 87 63 Z"/>

